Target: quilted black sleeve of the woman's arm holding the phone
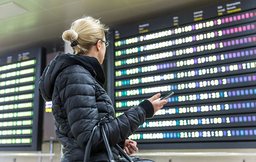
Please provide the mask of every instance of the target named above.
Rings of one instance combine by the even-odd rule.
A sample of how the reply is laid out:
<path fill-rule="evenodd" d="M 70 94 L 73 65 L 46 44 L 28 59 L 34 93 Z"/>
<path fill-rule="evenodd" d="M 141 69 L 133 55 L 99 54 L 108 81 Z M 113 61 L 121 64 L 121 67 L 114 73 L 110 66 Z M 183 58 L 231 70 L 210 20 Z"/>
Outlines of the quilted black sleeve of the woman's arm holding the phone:
<path fill-rule="evenodd" d="M 79 68 L 76 72 L 65 71 L 58 80 L 61 82 L 57 83 L 61 85 L 58 86 L 59 95 L 67 112 L 72 134 L 78 145 L 85 150 L 91 131 L 99 121 L 94 80 L 83 68 Z M 105 123 L 105 132 L 110 145 L 114 146 L 129 137 L 143 124 L 145 117 L 145 110 L 141 106 L 135 106 Z M 96 130 L 92 141 L 92 153 L 105 149 L 99 129 Z"/>

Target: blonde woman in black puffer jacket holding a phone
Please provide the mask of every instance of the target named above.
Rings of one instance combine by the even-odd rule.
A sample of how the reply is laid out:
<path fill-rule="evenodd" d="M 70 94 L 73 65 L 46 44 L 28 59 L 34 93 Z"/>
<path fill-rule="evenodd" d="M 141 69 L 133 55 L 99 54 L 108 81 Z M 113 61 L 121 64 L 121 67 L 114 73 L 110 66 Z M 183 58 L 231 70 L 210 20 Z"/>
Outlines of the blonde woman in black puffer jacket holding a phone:
<path fill-rule="evenodd" d="M 83 161 L 92 128 L 104 116 L 114 158 L 118 159 L 118 151 L 113 147 L 116 144 L 132 155 L 138 151 L 137 143 L 127 137 L 167 103 L 155 101 L 160 97 L 158 93 L 115 118 L 112 102 L 103 89 L 105 75 L 101 64 L 108 46 L 107 31 L 105 25 L 89 16 L 73 22 L 62 35 L 64 41 L 71 42 L 73 54 L 56 56 L 40 78 L 40 93 L 53 104 L 55 131 L 63 145 L 62 162 Z M 107 154 L 99 129 L 92 142 L 90 161 L 105 161 Z"/>

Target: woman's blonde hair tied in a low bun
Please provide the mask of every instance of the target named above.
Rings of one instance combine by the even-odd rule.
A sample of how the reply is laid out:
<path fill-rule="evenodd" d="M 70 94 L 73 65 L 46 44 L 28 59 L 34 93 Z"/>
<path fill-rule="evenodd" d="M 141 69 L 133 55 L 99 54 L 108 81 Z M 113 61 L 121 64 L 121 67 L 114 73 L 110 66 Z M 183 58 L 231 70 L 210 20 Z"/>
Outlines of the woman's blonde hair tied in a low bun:
<path fill-rule="evenodd" d="M 107 35 L 109 28 L 91 16 L 84 16 L 71 24 L 70 30 L 62 34 L 64 41 L 77 41 L 78 45 L 72 47 L 73 54 L 86 55 L 95 42 L 102 40 Z"/>

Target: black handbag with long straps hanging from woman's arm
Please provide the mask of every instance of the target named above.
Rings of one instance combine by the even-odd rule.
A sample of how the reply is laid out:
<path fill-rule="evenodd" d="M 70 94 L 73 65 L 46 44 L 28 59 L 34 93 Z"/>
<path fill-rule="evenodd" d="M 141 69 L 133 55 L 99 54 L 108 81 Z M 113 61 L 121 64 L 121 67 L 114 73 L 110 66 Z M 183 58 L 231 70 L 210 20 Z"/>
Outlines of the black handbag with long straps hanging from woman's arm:
<path fill-rule="evenodd" d="M 102 121 L 102 120 L 101 120 Z M 114 160 L 114 157 L 113 157 L 113 153 L 111 151 L 111 148 L 110 148 L 110 145 L 108 143 L 108 140 L 107 140 L 107 136 L 106 136 L 106 133 L 105 133 L 105 130 L 104 130 L 104 127 L 103 125 L 100 125 L 102 123 L 105 123 L 105 122 L 99 122 L 99 124 L 97 124 L 93 129 L 92 129 L 92 132 L 91 132 L 91 136 L 89 138 L 89 141 L 86 145 L 86 149 L 85 149 L 85 154 L 84 154 L 84 162 L 88 162 L 88 159 L 89 159 L 89 156 L 90 156 L 90 153 L 91 153 L 91 147 L 92 147 L 92 137 L 94 135 L 94 132 L 96 130 L 97 127 L 100 127 L 100 132 L 102 134 L 102 138 L 103 138 L 103 141 L 105 143 L 105 146 L 106 146 L 106 149 L 107 149 L 107 155 L 108 155 L 108 162 L 154 162 L 153 160 L 148 160 L 148 159 L 140 159 L 139 157 L 130 157 L 126 154 L 126 152 L 124 152 L 124 150 L 122 150 L 122 148 L 118 145 L 115 145 L 114 148 L 116 148 L 119 153 L 124 156 L 119 158 L 118 160 Z"/>

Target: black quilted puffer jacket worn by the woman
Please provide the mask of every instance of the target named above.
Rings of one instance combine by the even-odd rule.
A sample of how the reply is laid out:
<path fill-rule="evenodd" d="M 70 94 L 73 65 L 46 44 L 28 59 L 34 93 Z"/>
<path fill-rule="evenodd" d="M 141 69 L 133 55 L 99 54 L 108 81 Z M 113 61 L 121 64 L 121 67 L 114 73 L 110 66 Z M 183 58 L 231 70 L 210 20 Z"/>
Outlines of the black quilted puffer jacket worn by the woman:
<path fill-rule="evenodd" d="M 153 116 L 153 105 L 145 100 L 123 115 L 114 118 L 112 102 L 102 88 L 105 82 L 103 70 L 94 57 L 62 54 L 56 56 L 40 78 L 39 90 L 45 101 L 52 101 L 55 131 L 63 145 L 62 162 L 83 161 L 87 141 L 92 128 L 103 116 L 107 138 L 115 158 L 118 151 L 113 147 Z M 90 161 L 104 161 L 107 154 L 97 129 L 91 148 Z"/>

